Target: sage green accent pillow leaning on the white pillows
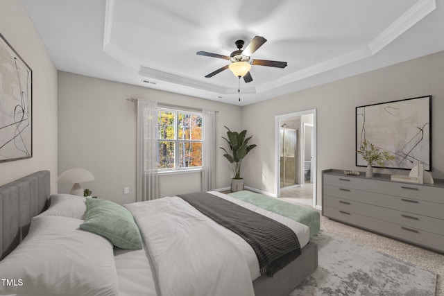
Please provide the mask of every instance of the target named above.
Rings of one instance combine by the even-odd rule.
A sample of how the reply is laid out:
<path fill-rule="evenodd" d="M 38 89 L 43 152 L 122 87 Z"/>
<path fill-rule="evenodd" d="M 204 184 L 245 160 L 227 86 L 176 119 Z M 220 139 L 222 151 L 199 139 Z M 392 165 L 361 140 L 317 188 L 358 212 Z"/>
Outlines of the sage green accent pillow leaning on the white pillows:
<path fill-rule="evenodd" d="M 80 229 L 108 238 L 122 249 L 142 249 L 142 237 L 133 214 L 121 205 L 96 198 L 86 199 L 85 222 Z"/>

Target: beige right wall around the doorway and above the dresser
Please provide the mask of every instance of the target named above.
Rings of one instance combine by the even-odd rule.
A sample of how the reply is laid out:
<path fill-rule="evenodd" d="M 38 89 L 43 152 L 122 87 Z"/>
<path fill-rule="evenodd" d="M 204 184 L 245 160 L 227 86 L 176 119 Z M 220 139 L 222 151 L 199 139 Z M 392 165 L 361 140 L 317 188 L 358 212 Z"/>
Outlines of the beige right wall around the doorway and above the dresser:
<path fill-rule="evenodd" d="M 275 193 L 275 116 L 317 110 L 317 202 L 321 204 L 321 171 L 355 166 L 355 107 L 432 95 L 432 175 L 444 177 L 444 52 L 395 64 L 358 76 L 287 94 L 242 108 L 242 128 L 255 135 L 257 148 L 247 161 L 248 186 Z M 376 170 L 378 171 L 378 170 Z M 381 170 L 383 173 L 406 171 Z"/>

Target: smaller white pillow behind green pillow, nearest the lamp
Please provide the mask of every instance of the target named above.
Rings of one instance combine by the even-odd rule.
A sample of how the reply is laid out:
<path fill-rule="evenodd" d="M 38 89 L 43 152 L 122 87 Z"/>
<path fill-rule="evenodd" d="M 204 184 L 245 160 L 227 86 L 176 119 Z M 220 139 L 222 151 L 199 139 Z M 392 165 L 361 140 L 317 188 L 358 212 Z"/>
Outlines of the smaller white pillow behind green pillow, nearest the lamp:
<path fill-rule="evenodd" d="M 83 196 L 71 194 L 53 194 L 49 198 L 49 208 L 39 216 L 63 216 L 82 219 L 86 211 Z"/>

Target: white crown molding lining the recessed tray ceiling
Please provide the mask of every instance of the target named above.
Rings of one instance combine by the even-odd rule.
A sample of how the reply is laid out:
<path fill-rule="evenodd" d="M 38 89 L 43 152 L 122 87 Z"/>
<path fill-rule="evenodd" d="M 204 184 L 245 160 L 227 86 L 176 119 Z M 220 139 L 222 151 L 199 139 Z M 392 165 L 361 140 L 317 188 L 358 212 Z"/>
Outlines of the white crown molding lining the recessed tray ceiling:
<path fill-rule="evenodd" d="M 106 0 L 105 6 L 105 28 L 103 36 L 103 51 L 110 55 L 126 67 L 130 67 L 139 73 L 139 76 L 149 78 L 149 80 L 161 80 L 171 84 L 182 85 L 193 89 L 200 89 L 203 92 L 210 92 L 221 96 L 238 94 L 237 87 L 223 87 L 220 85 L 213 85 L 211 83 L 203 82 L 185 76 L 179 76 L 173 73 L 160 71 L 144 67 L 137 61 L 133 60 L 126 52 L 124 52 L 118 45 L 112 43 L 112 23 L 115 9 L 115 0 Z M 305 69 L 300 69 L 296 72 L 283 76 L 278 80 L 268 81 L 257 87 L 243 87 L 241 94 L 260 94 L 262 92 L 271 91 L 277 87 L 289 85 L 293 82 L 316 76 L 320 73 L 330 71 L 342 67 L 352 62 L 357 62 L 371 55 L 375 55 L 378 51 L 393 42 L 397 37 L 402 35 L 421 19 L 429 15 L 430 12 L 436 9 L 436 0 L 420 0 L 415 5 L 411 6 L 407 12 L 393 21 L 382 33 L 377 35 L 365 46 L 349 51 L 343 55 L 337 56 L 330 60 L 319 62 Z"/>

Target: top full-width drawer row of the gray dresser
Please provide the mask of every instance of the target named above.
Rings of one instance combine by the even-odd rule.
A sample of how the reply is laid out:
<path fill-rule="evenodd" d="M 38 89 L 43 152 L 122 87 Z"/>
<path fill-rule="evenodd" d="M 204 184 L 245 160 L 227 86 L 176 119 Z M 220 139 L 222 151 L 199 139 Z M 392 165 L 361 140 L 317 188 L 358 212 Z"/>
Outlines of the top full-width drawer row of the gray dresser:
<path fill-rule="evenodd" d="M 329 174 L 323 175 L 323 184 L 444 204 L 442 187 Z"/>

